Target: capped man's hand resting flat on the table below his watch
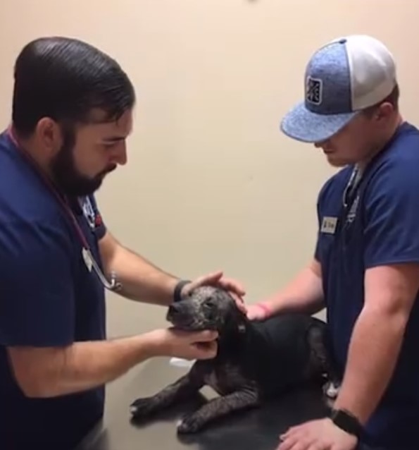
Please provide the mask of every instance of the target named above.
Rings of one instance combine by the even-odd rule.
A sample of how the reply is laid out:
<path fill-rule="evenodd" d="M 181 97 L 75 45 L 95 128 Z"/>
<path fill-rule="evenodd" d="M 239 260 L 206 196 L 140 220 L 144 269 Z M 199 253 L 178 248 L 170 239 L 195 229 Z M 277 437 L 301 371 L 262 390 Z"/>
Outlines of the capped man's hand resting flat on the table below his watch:
<path fill-rule="evenodd" d="M 329 418 L 291 427 L 280 436 L 277 450 L 354 450 L 358 439 L 338 428 Z"/>

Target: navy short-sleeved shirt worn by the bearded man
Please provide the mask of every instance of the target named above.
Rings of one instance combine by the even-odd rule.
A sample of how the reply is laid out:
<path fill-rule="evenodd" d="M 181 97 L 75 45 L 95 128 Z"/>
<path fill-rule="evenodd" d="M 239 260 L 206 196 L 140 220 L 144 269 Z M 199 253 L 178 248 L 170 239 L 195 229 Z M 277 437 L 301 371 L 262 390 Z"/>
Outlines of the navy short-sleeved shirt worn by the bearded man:
<path fill-rule="evenodd" d="M 75 217 L 100 264 L 105 226 L 94 197 L 92 229 Z M 68 450 L 104 412 L 104 387 L 49 399 L 27 398 L 7 346 L 61 347 L 106 338 L 104 288 L 82 258 L 75 226 L 42 178 L 0 135 L 0 448 Z M 31 447 L 27 446 L 31 443 Z"/>

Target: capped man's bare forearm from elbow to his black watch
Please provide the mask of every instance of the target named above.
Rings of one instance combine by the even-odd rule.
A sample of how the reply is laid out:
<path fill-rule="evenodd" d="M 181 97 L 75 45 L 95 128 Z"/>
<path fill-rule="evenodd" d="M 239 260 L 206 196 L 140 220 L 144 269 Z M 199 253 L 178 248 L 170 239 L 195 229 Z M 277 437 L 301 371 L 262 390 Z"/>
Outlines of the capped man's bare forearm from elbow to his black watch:
<path fill-rule="evenodd" d="M 405 324 L 399 313 L 364 308 L 354 327 L 334 408 L 351 412 L 363 424 L 368 421 L 394 372 Z"/>

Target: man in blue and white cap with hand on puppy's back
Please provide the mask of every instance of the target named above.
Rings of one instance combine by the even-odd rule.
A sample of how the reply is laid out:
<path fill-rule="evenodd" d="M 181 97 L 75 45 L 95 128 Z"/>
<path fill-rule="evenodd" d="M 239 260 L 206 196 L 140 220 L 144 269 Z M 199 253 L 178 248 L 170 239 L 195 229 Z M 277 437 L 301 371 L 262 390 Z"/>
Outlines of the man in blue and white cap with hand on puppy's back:
<path fill-rule="evenodd" d="M 313 261 L 249 317 L 326 308 L 342 384 L 330 417 L 291 427 L 278 449 L 418 449 L 419 130 L 401 118 L 392 54 L 370 36 L 315 51 L 304 95 L 281 130 L 339 170 L 318 195 Z"/>

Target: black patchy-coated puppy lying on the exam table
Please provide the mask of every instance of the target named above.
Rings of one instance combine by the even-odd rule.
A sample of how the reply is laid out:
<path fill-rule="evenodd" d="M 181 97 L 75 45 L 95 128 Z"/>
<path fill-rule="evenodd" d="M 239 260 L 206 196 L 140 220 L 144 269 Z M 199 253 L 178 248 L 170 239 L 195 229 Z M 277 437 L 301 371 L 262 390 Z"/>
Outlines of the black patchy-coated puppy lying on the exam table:
<path fill-rule="evenodd" d="M 192 433 L 299 384 L 315 379 L 337 382 L 327 355 L 325 322 L 310 315 L 287 313 L 249 321 L 229 293 L 205 286 L 170 305 L 167 319 L 177 329 L 218 330 L 218 354 L 196 361 L 187 375 L 154 396 L 135 400 L 130 406 L 135 420 L 149 418 L 208 385 L 219 397 L 177 427 L 180 433 Z"/>

